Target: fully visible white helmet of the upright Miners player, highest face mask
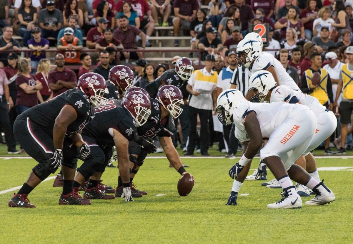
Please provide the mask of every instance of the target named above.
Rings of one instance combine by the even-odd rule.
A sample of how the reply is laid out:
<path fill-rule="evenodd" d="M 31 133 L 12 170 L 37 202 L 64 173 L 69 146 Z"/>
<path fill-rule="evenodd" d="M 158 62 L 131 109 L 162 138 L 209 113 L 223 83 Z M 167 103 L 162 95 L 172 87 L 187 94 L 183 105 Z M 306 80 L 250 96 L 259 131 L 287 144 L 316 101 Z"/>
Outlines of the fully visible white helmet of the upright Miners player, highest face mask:
<path fill-rule="evenodd" d="M 260 42 L 256 39 L 243 39 L 239 42 L 237 46 L 237 51 L 235 52 L 238 57 L 236 62 L 238 66 L 250 67 L 251 62 L 258 56 L 261 55 L 262 48 Z"/>

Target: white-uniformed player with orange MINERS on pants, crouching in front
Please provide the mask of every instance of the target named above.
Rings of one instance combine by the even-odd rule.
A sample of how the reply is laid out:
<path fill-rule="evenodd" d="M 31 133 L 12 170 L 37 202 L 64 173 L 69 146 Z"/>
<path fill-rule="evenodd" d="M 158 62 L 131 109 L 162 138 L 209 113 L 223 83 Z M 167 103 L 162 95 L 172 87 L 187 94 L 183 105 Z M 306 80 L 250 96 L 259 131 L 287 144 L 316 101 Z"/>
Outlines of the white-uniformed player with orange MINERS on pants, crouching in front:
<path fill-rule="evenodd" d="M 234 122 L 235 136 L 244 142 L 243 156 L 229 170 L 235 181 L 226 205 L 237 205 L 239 189 L 263 138 L 268 138 L 268 142 L 260 150 L 260 158 L 283 189 L 282 199 L 267 205 L 268 208 L 302 207 L 292 180 L 316 193 L 306 205 L 322 205 L 335 200 L 334 193 L 323 181 L 318 182 L 299 165 L 293 164 L 307 151 L 316 132 L 316 116 L 309 107 L 283 102 L 251 103 L 240 91 L 228 89 L 217 98 L 216 111 L 221 123 Z"/>

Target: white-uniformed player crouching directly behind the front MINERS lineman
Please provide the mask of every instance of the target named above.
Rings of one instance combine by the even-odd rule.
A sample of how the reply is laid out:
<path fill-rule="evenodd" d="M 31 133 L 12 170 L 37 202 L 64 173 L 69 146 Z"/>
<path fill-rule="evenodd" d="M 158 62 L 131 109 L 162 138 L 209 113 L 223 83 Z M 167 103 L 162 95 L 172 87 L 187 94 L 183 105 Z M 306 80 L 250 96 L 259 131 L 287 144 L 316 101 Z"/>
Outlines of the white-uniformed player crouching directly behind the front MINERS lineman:
<path fill-rule="evenodd" d="M 250 98 L 250 101 L 254 103 L 263 103 L 264 101 L 270 103 L 276 101 L 299 103 L 308 106 L 315 113 L 317 119 L 316 132 L 307 150 L 309 152 L 305 153 L 304 157 L 307 172 L 317 181 L 320 181 L 316 169 L 315 157 L 310 151 L 318 147 L 336 130 L 337 119 L 334 113 L 321 105 L 317 98 L 304 94 L 299 89 L 293 89 L 289 86 L 277 86 L 272 74 L 265 70 L 257 71 L 250 77 L 249 91 L 255 93 L 255 95 Z M 296 187 L 300 187 L 300 189 L 304 188 L 300 185 Z M 310 195 L 306 194 L 306 196 Z"/>

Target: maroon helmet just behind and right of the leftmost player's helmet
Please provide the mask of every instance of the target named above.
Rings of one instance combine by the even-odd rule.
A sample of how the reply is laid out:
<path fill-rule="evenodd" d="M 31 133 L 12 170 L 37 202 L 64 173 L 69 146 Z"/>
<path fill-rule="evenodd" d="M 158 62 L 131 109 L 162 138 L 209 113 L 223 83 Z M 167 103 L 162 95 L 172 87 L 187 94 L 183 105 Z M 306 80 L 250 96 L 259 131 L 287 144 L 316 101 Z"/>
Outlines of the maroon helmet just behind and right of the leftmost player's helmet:
<path fill-rule="evenodd" d="M 131 83 L 135 81 L 135 76 L 132 70 L 124 65 L 116 65 L 109 70 L 108 81 L 112 82 L 114 86 L 118 86 L 124 93 Z"/>

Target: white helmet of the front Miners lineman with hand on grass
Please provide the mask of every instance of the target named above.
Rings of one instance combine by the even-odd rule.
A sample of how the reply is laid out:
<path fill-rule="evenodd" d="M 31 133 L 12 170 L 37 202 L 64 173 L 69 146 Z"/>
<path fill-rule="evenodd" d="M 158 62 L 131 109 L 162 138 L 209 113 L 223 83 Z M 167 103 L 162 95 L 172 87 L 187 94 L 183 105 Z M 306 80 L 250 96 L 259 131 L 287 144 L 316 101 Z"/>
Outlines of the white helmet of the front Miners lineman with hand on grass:
<path fill-rule="evenodd" d="M 233 110 L 241 101 L 245 101 L 245 98 L 237 89 L 227 89 L 218 96 L 216 112 L 222 124 L 226 126 L 232 123 Z"/>

